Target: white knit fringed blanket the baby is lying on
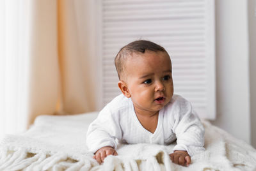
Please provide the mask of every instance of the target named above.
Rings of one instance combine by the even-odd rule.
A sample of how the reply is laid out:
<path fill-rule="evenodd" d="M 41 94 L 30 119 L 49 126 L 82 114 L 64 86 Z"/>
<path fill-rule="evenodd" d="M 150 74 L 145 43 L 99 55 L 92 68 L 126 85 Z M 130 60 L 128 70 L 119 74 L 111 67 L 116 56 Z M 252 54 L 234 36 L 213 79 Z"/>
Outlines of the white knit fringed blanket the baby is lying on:
<path fill-rule="evenodd" d="M 0 170 L 256 170 L 256 150 L 207 121 L 205 152 L 193 156 L 189 167 L 170 161 L 167 151 L 175 144 L 119 145 L 118 156 L 108 156 L 99 165 L 85 145 L 86 130 L 96 117 L 37 117 L 25 133 L 1 140 Z"/>

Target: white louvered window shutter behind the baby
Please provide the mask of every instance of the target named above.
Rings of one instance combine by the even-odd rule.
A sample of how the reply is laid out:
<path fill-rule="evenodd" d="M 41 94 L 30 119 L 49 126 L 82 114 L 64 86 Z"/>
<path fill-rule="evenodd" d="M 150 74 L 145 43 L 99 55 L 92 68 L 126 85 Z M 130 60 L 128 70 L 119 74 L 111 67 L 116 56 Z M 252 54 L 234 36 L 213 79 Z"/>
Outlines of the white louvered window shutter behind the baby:
<path fill-rule="evenodd" d="M 172 59 L 174 93 L 200 117 L 216 116 L 214 0 L 101 0 L 102 106 L 120 94 L 114 58 L 134 40 L 163 46 Z"/>

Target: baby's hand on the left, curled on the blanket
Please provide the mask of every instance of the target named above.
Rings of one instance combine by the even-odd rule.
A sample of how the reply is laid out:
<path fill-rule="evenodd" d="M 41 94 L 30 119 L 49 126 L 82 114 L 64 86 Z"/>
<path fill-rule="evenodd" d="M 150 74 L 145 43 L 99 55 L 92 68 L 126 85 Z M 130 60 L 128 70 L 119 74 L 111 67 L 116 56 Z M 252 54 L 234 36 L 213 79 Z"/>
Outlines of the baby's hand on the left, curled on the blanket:
<path fill-rule="evenodd" d="M 101 164 L 101 163 L 103 163 L 106 156 L 109 156 L 109 155 L 116 156 L 117 153 L 116 153 L 115 149 L 113 149 L 113 147 L 106 146 L 106 147 L 102 147 L 98 151 L 96 151 L 93 158 Z"/>

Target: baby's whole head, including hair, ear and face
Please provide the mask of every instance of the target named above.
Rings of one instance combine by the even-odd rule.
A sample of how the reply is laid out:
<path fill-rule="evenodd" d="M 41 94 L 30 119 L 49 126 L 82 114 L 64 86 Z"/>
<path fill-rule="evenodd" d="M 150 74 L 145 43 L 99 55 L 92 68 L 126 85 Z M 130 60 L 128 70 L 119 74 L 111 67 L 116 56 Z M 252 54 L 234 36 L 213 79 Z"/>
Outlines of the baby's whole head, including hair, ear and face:
<path fill-rule="evenodd" d="M 173 96 L 172 62 L 166 50 L 146 40 L 125 45 L 115 57 L 118 87 L 134 108 L 158 111 Z"/>

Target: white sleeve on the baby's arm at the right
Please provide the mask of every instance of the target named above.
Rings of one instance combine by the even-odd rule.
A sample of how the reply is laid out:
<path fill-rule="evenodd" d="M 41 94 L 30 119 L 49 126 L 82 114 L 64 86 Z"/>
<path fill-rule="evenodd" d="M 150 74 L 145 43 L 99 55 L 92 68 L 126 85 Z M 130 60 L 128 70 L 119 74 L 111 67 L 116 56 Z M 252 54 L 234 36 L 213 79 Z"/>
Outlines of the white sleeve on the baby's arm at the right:
<path fill-rule="evenodd" d="M 175 110 L 172 130 L 177 137 L 177 145 L 173 151 L 187 151 L 189 156 L 204 151 L 204 126 L 193 111 L 191 103 L 184 98 L 179 98 L 175 103 L 179 105 L 172 108 Z"/>

